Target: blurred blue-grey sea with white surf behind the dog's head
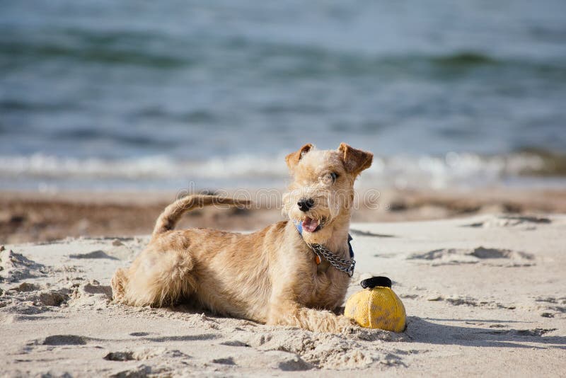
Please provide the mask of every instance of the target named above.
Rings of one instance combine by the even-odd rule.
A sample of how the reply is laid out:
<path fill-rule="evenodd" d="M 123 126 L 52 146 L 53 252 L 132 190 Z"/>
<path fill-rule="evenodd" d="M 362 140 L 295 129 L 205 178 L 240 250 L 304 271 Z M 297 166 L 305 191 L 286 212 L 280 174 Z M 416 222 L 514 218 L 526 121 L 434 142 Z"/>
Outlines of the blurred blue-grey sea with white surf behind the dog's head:
<path fill-rule="evenodd" d="M 0 189 L 566 188 L 566 2 L 1 1 Z"/>

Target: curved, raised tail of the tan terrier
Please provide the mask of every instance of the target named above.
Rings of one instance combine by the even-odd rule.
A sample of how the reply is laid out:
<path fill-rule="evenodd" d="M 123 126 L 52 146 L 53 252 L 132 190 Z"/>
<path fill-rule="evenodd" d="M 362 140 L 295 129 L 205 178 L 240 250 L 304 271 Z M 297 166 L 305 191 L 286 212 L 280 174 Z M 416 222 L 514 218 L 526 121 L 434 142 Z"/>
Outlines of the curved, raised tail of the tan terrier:
<path fill-rule="evenodd" d="M 241 207 L 250 205 L 250 203 L 250 200 L 237 200 L 235 198 L 219 197 L 217 195 L 187 195 L 186 197 L 180 198 L 180 200 L 176 200 L 163 210 L 155 223 L 153 236 L 174 229 L 181 215 L 185 214 L 187 211 L 209 205 Z"/>

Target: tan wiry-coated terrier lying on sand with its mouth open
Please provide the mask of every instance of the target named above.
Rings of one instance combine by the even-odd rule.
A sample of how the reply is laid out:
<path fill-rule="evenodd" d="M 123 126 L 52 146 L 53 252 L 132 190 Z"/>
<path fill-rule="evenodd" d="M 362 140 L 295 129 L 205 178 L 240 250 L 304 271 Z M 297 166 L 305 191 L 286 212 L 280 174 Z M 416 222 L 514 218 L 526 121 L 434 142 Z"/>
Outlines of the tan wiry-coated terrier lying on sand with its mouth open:
<path fill-rule="evenodd" d="M 282 211 L 289 220 L 252 234 L 175 230 L 189 210 L 242 205 L 213 195 L 177 200 L 158 217 L 132 265 L 115 272 L 114 301 L 152 307 L 196 301 L 258 323 L 350 332 L 354 322 L 333 310 L 344 302 L 354 268 L 348 234 L 354 181 L 372 159 L 345 143 L 336 150 L 305 144 L 287 155 L 293 181 Z"/>

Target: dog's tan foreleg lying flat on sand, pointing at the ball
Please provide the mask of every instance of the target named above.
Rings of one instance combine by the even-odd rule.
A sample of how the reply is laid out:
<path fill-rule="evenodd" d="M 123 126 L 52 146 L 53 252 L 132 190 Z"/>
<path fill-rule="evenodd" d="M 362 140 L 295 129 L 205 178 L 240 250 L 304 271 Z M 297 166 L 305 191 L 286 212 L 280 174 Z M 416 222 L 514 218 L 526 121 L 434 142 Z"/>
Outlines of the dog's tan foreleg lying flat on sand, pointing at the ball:
<path fill-rule="evenodd" d="M 330 311 L 308 309 L 292 301 L 272 302 L 267 324 L 329 333 L 347 333 L 355 327 L 354 321 L 346 316 L 337 316 Z"/>

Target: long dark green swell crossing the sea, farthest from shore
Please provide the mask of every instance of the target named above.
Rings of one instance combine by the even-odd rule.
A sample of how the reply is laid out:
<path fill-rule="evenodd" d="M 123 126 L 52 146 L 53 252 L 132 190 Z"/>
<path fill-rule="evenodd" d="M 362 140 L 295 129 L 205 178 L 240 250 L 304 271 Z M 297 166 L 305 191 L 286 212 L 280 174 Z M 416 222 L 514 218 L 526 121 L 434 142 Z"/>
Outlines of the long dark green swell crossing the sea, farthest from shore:
<path fill-rule="evenodd" d="M 407 74 L 451 79 L 470 69 L 519 70 L 537 76 L 566 76 L 563 61 L 541 61 L 528 57 L 496 56 L 484 50 L 456 50 L 444 53 L 371 53 L 291 42 L 272 42 L 258 37 L 231 37 L 135 32 L 132 30 L 87 30 L 51 28 L 4 30 L 0 38 L 0 62 L 28 64 L 50 59 L 108 65 L 134 65 L 149 69 L 201 67 L 226 70 L 250 69 L 259 76 L 303 78 L 320 76 L 391 77 Z M 282 60 L 283 59 L 283 60 Z M 285 64 L 282 64 L 282 62 Z M 246 68 L 248 67 L 248 68 Z"/>

